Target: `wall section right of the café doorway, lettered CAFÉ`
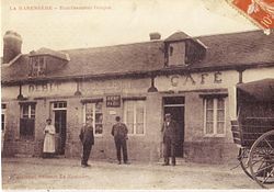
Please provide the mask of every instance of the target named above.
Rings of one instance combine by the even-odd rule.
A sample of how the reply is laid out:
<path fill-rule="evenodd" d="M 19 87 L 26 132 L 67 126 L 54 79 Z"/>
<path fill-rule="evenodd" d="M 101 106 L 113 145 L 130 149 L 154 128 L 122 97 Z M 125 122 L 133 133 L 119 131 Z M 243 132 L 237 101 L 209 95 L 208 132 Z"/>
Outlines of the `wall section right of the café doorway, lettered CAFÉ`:
<path fill-rule="evenodd" d="M 236 114 L 236 84 L 239 72 L 212 71 L 157 77 L 160 92 L 185 98 L 184 158 L 196 162 L 227 162 L 237 157 L 232 143 L 230 120 Z M 204 134 L 204 103 L 201 94 L 226 93 L 226 128 L 224 137 L 208 137 Z"/>

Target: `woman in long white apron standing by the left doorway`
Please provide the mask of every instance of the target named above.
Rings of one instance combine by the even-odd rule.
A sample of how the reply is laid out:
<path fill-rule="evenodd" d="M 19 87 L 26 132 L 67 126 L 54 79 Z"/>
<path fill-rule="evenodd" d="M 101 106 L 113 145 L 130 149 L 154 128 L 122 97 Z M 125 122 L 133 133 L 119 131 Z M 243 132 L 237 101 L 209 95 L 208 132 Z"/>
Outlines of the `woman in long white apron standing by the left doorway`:
<path fill-rule="evenodd" d="M 55 126 L 52 125 L 52 120 L 46 120 L 46 127 L 44 128 L 44 146 L 43 146 L 43 157 L 53 157 L 55 154 Z"/>

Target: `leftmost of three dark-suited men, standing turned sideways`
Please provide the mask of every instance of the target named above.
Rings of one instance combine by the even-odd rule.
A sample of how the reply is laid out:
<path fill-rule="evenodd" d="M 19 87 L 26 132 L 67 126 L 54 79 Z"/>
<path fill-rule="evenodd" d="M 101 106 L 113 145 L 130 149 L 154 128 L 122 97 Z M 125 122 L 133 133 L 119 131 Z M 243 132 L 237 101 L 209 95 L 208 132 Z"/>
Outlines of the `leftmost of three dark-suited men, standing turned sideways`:
<path fill-rule="evenodd" d="M 83 145 L 81 166 L 89 167 L 90 165 L 88 165 L 88 160 L 90 157 L 90 151 L 91 151 L 92 145 L 94 145 L 92 118 L 87 120 L 87 124 L 81 128 L 79 137 L 81 139 L 82 145 Z"/>

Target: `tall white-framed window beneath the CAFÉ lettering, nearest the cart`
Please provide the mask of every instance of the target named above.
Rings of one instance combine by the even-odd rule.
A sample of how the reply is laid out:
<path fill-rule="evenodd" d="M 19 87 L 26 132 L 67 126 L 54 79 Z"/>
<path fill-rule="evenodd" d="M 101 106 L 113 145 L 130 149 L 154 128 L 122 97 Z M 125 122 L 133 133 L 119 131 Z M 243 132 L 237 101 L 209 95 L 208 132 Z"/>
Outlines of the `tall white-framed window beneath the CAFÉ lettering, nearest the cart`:
<path fill-rule="evenodd" d="M 204 99 L 205 136 L 225 136 L 226 127 L 225 98 Z"/>

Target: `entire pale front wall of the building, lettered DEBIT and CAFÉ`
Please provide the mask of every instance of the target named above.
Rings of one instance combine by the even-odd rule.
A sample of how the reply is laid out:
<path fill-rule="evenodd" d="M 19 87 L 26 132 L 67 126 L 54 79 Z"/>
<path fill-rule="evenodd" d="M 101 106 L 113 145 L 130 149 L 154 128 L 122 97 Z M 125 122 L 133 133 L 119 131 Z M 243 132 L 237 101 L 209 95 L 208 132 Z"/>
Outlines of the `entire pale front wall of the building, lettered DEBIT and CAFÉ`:
<path fill-rule="evenodd" d="M 248 69 L 243 72 L 243 82 L 263 78 L 273 78 L 273 68 Z M 260 74 L 260 78 L 259 75 Z M 255 76 L 256 75 L 256 76 Z M 130 135 L 128 155 L 130 160 L 155 161 L 162 157 L 161 124 L 163 122 L 162 98 L 185 98 L 184 158 L 196 162 L 227 162 L 237 157 L 237 147 L 232 143 L 230 120 L 236 113 L 236 84 L 239 74 L 230 71 L 196 72 L 187 75 L 159 76 L 156 78 L 158 92 L 148 93 L 150 79 L 116 79 L 77 82 L 49 82 L 25 84 L 22 88 L 26 101 L 36 102 L 35 139 L 20 138 L 20 105 L 16 97 L 19 87 L 3 87 L 2 101 L 7 103 L 7 131 L 4 155 L 25 154 L 41 156 L 43 148 L 43 128 L 45 120 L 50 116 L 50 103 L 67 102 L 67 140 L 65 157 L 81 156 L 79 132 L 83 124 L 83 103 L 85 99 L 103 99 L 103 135 L 95 137 L 92 157 L 115 160 L 115 146 L 111 135 L 115 116 L 123 118 L 123 102 L 119 108 L 106 108 L 107 95 L 121 98 L 145 97 L 146 134 Z M 79 87 L 81 95 L 75 92 Z M 226 134 L 225 137 L 205 137 L 204 111 L 201 94 L 225 93 L 226 97 Z"/>

